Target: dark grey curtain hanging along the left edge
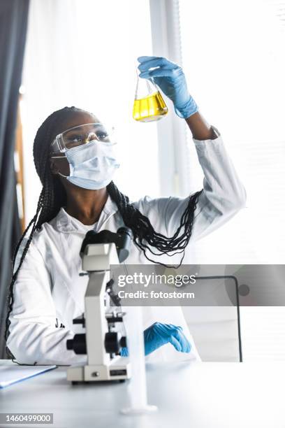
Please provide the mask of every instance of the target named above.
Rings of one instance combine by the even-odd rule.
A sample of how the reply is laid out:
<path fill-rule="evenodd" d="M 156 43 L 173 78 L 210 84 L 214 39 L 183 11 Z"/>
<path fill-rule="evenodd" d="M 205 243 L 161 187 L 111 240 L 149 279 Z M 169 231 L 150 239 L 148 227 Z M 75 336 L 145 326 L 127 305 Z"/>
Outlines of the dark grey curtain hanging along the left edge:
<path fill-rule="evenodd" d="M 17 106 L 27 34 L 29 0 L 0 0 L 0 358 L 5 352 L 8 286 L 21 236 L 14 169 Z"/>

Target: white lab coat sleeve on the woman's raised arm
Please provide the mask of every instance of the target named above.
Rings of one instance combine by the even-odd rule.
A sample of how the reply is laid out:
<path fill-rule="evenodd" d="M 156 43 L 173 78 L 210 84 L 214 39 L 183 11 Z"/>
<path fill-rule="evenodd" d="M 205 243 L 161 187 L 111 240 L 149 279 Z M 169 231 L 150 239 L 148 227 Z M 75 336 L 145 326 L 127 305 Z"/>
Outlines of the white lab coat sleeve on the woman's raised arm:
<path fill-rule="evenodd" d="M 194 212 L 191 234 L 191 240 L 198 240 L 244 208 L 246 192 L 221 136 L 205 141 L 193 139 L 193 142 L 204 173 L 203 192 Z M 163 197 L 152 200 L 147 198 L 145 197 L 142 203 L 142 209 L 149 217 L 154 213 L 153 219 L 154 216 L 159 216 L 159 231 L 166 231 L 167 236 L 173 236 L 180 225 L 189 197 Z"/>

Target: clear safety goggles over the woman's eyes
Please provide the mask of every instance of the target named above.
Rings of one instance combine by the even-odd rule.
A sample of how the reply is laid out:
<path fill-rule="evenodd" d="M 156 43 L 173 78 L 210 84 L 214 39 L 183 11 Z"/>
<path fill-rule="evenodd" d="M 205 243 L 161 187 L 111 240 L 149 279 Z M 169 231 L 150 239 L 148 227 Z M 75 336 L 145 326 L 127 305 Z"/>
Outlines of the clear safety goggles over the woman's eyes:
<path fill-rule="evenodd" d="M 114 128 L 107 131 L 101 123 L 82 124 L 58 134 L 52 141 L 50 151 L 52 153 L 64 153 L 66 149 L 85 145 L 94 140 L 115 144 L 112 141 L 113 137 Z"/>

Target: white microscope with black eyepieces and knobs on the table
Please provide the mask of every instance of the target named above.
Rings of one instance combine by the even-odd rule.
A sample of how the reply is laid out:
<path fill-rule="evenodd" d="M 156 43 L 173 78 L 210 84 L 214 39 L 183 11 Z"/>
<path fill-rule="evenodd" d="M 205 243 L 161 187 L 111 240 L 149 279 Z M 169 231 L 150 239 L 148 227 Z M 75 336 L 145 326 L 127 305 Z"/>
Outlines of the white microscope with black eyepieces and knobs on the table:
<path fill-rule="evenodd" d="M 75 318 L 73 324 L 82 324 L 85 334 L 75 334 L 66 341 L 66 348 L 75 354 L 86 355 L 87 365 L 67 369 L 67 380 L 94 382 L 102 380 L 124 381 L 130 378 L 128 357 L 119 351 L 126 346 L 126 336 L 117 331 L 124 313 L 115 311 L 119 298 L 112 290 L 110 264 L 124 262 L 129 256 L 133 234 L 131 229 L 120 227 L 117 233 L 103 230 L 88 231 L 82 243 L 80 256 L 82 270 L 89 275 L 85 293 L 85 314 Z M 112 300 L 113 306 L 110 305 Z"/>

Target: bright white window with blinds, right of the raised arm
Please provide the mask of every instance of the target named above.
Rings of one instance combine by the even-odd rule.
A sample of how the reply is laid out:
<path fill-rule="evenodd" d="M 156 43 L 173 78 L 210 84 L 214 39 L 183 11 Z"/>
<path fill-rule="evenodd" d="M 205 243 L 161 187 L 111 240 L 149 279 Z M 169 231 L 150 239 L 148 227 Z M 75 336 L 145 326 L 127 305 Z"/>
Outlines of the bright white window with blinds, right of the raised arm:
<path fill-rule="evenodd" d="M 180 0 L 180 24 L 189 90 L 247 190 L 247 208 L 197 243 L 193 262 L 284 264 L 285 1 Z M 285 308 L 241 315 L 245 359 L 285 358 Z"/>

